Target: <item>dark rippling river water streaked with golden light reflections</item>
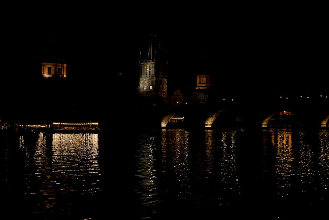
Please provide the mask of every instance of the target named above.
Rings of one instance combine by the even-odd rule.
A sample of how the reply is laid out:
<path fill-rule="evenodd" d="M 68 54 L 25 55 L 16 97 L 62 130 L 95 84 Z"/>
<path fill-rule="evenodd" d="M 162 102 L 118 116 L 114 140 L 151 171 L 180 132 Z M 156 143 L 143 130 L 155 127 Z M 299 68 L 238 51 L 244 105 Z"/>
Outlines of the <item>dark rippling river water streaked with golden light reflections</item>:
<path fill-rule="evenodd" d="M 314 219 L 328 130 L 2 135 L 7 219 Z"/>

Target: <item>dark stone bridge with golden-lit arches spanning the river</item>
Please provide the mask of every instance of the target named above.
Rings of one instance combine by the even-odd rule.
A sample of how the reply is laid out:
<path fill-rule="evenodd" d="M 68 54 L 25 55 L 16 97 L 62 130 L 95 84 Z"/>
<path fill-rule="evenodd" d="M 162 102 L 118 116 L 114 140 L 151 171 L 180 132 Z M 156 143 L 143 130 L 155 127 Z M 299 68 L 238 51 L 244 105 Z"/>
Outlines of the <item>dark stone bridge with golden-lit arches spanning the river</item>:
<path fill-rule="evenodd" d="M 181 120 L 182 123 L 177 123 Z M 176 123 L 171 123 L 174 121 Z M 161 115 L 161 127 L 176 125 L 188 128 L 238 127 L 329 127 L 329 109 L 326 105 L 244 105 L 230 108 L 181 108 L 171 109 Z"/>

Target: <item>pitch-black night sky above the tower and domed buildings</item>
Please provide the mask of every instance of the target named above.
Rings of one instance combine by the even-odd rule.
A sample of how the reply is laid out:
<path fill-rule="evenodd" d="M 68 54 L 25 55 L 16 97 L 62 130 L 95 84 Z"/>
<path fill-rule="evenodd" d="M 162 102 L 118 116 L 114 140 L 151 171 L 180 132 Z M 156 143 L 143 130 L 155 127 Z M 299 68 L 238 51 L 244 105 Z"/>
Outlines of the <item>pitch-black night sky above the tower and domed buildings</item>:
<path fill-rule="evenodd" d="M 272 94 L 328 93 L 327 23 L 324 14 L 305 11 L 306 6 L 251 11 L 244 6 L 193 6 L 190 11 L 166 6 L 156 13 L 103 7 L 10 17 L 3 32 L 8 66 L 0 78 L 6 91 L 2 105 L 16 103 L 19 94 L 26 98 L 27 91 L 31 99 L 51 93 L 29 77 L 34 57 L 50 36 L 63 48 L 67 78 L 81 92 L 77 96 L 98 96 L 97 88 L 109 88 L 120 72 L 138 85 L 139 51 L 148 48 L 151 35 L 167 52 L 170 82 L 181 87 L 195 86 L 196 74 L 210 74 L 218 93 L 264 94 L 264 87 Z M 31 90 L 29 84 L 38 88 Z M 77 85 L 89 85 L 89 90 Z"/>

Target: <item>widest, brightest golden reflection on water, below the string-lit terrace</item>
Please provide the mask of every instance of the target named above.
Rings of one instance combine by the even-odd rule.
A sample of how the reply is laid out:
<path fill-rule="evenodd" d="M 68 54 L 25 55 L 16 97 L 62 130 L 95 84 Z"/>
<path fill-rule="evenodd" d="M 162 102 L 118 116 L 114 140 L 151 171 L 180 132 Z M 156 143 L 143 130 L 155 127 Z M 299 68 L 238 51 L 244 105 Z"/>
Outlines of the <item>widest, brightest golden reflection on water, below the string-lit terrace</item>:
<path fill-rule="evenodd" d="M 100 178 L 98 167 L 98 134 L 53 134 L 52 170 L 56 173 L 56 184 L 74 180 L 81 194 L 95 194 Z M 89 178 L 92 176 L 93 178 Z M 64 182 L 62 183 L 61 181 Z"/>

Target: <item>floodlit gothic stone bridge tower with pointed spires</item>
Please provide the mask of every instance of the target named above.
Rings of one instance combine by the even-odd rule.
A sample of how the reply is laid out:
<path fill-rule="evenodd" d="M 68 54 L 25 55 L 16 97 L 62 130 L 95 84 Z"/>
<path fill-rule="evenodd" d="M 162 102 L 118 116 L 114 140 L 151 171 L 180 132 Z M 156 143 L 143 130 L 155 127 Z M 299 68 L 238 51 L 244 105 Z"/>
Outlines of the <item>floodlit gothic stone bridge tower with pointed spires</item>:
<path fill-rule="evenodd" d="M 148 48 L 148 53 L 139 54 L 139 94 L 154 103 L 167 102 L 167 61 L 160 44 Z"/>

